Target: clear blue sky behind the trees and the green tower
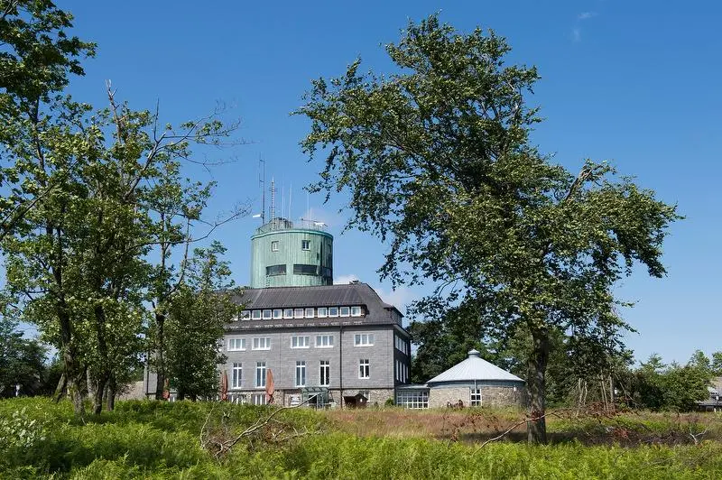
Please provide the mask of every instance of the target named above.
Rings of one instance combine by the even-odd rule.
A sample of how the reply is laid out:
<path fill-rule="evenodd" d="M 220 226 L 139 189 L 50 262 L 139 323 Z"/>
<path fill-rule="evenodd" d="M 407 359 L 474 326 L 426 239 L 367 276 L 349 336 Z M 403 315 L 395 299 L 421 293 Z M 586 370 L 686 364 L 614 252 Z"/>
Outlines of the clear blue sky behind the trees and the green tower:
<path fill-rule="evenodd" d="M 542 152 L 576 171 L 584 158 L 609 160 L 635 175 L 687 218 L 671 228 L 664 260 L 669 276 L 640 269 L 618 294 L 636 300 L 624 312 L 638 334 L 627 344 L 638 359 L 653 352 L 685 362 L 699 348 L 722 350 L 717 308 L 722 262 L 719 140 L 722 139 L 722 6 L 714 2 L 197 2 L 60 1 L 76 33 L 98 43 L 87 76 L 74 78 L 77 99 L 105 106 L 105 80 L 136 109 L 160 102 L 163 122 L 205 115 L 217 102 L 240 117 L 238 136 L 252 143 L 216 152 L 235 159 L 200 178 L 218 180 L 209 208 L 220 212 L 258 194 L 258 158 L 266 161 L 292 217 L 308 216 L 301 187 L 315 180 L 298 143 L 308 122 L 289 115 L 310 79 L 337 76 L 360 56 L 362 69 L 390 71 L 383 44 L 398 40 L 409 19 L 440 12 L 460 31 L 477 25 L 507 38 L 509 61 L 533 64 L 542 80 L 529 98 L 546 121 L 533 134 Z M 348 4 L 348 5 L 344 5 Z M 284 191 L 282 194 L 281 191 Z M 403 304 L 422 289 L 391 291 L 375 273 L 385 251 L 376 239 L 341 234 L 344 198 L 308 198 L 315 219 L 335 235 L 338 280 L 356 277 L 386 300 Z M 286 205 L 286 208 L 287 205 Z M 249 274 L 250 217 L 224 226 L 236 282 Z"/>

